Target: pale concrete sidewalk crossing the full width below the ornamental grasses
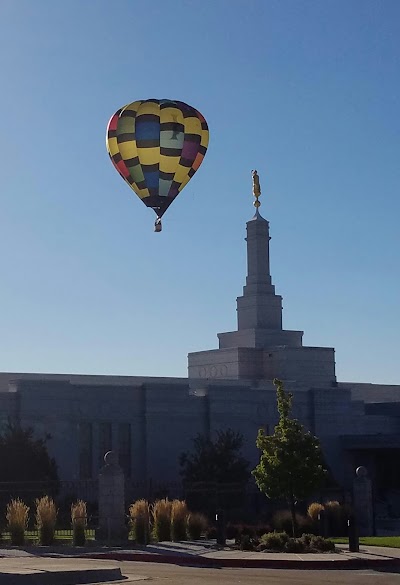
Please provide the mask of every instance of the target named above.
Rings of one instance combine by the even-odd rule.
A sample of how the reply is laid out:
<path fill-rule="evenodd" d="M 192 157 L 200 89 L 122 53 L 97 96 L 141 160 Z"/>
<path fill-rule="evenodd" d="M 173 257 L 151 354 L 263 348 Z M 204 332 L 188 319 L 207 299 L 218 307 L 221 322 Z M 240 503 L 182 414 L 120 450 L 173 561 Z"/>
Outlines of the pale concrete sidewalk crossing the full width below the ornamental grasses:
<path fill-rule="evenodd" d="M 217 547 L 215 541 L 161 542 L 130 549 L 117 547 L 26 547 L 0 549 L 0 557 L 28 559 L 80 558 L 109 561 L 139 561 L 204 567 L 284 568 L 284 569 L 391 569 L 400 571 L 400 549 L 361 546 L 351 553 L 346 545 L 336 545 L 335 553 L 276 553 Z M 4 564 L 4 563 L 2 563 Z"/>

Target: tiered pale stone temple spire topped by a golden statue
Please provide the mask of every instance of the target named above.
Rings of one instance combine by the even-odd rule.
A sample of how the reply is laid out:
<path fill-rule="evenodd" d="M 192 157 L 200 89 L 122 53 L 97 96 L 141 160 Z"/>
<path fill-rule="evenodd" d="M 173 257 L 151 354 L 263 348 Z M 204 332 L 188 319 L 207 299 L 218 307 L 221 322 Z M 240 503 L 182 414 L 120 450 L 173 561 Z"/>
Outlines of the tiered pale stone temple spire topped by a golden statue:
<path fill-rule="evenodd" d="M 189 354 L 191 378 L 295 379 L 296 367 L 303 376 L 301 368 L 311 350 L 298 359 L 293 351 L 302 350 L 303 332 L 282 327 L 282 297 L 271 282 L 269 223 L 259 213 L 260 178 L 256 170 L 251 175 L 256 212 L 246 223 L 247 276 L 243 294 L 236 299 L 237 330 L 218 333 L 219 349 Z"/>

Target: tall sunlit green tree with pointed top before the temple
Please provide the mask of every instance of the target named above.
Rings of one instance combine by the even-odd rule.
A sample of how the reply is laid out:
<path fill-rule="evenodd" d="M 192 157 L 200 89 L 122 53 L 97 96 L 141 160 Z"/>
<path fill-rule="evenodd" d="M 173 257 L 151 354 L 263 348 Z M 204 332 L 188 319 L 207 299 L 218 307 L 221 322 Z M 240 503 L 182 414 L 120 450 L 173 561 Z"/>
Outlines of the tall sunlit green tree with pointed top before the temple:
<path fill-rule="evenodd" d="M 326 467 L 317 437 L 290 417 L 293 395 L 275 379 L 279 422 L 274 434 L 258 431 L 260 462 L 252 471 L 257 486 L 268 497 L 284 498 L 291 511 L 293 535 L 297 532 L 295 503 L 310 496 L 323 482 Z"/>

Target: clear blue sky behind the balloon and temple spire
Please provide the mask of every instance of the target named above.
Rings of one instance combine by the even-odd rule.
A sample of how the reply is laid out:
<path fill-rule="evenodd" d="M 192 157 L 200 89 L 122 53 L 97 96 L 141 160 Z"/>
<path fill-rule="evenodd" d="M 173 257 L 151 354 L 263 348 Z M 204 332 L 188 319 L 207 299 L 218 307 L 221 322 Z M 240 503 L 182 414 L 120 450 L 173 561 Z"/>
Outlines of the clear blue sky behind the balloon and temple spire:
<path fill-rule="evenodd" d="M 3 0 L 0 370 L 185 376 L 236 328 L 250 171 L 284 326 L 341 381 L 400 383 L 398 0 Z M 185 101 L 210 128 L 153 233 L 105 128 Z"/>

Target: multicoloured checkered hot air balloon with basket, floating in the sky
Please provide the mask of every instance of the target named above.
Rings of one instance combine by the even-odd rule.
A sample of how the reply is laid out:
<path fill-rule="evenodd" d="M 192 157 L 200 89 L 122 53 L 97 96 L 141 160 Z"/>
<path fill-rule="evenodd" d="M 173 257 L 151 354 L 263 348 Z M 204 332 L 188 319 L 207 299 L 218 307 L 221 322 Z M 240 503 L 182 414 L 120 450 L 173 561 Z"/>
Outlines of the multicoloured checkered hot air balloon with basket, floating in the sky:
<path fill-rule="evenodd" d="M 106 146 L 121 177 L 155 211 L 160 232 L 162 216 L 203 162 L 208 126 L 184 102 L 139 100 L 111 117 Z"/>

